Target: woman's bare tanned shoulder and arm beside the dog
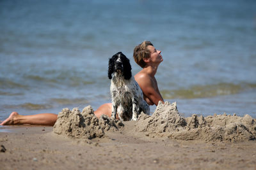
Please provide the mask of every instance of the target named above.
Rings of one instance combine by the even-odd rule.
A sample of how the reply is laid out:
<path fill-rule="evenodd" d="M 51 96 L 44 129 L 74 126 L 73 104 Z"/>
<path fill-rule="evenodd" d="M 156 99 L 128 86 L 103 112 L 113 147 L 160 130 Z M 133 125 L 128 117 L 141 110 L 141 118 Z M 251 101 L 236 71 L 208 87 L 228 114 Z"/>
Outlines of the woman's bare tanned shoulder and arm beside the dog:
<path fill-rule="evenodd" d="M 164 103 L 164 99 L 158 90 L 157 82 L 152 80 L 150 76 L 143 74 L 140 76 L 140 78 L 138 78 L 137 82 L 140 85 L 140 88 L 145 95 L 145 100 L 148 104 L 156 104 L 157 106 L 159 101 Z"/>

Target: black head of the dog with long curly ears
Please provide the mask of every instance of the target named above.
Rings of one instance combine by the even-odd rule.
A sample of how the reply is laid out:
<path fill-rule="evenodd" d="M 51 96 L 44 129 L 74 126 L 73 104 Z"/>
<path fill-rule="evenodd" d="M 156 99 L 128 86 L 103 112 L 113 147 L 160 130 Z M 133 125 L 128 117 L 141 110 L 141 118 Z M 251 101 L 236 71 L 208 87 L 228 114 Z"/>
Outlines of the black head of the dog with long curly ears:
<path fill-rule="evenodd" d="M 132 76 L 132 67 L 130 60 L 122 52 L 118 52 L 108 62 L 108 78 L 112 78 L 113 73 L 122 74 L 125 80 L 129 80 Z"/>

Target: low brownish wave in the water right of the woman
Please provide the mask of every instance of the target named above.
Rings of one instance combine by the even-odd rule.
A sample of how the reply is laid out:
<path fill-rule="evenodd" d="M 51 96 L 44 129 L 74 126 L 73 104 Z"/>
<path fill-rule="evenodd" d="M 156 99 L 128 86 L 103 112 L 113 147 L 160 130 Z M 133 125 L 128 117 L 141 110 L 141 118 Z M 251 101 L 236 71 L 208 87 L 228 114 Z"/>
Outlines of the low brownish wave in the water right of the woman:
<path fill-rule="evenodd" d="M 189 89 L 162 90 L 164 99 L 195 99 L 203 97 L 225 96 L 238 94 L 248 89 L 255 89 L 256 84 L 252 83 L 218 83 L 216 85 L 197 85 Z"/>

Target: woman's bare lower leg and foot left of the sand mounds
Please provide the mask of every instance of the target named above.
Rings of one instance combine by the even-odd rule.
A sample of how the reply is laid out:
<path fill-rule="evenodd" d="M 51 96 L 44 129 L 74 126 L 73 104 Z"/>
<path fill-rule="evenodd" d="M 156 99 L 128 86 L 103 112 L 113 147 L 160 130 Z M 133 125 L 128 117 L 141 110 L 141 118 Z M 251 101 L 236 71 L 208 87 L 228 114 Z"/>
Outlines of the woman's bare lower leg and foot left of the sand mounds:
<path fill-rule="evenodd" d="M 10 117 L 6 118 L 1 125 L 54 125 L 58 115 L 54 113 L 40 113 L 36 115 L 19 115 L 17 112 L 12 112 Z"/>

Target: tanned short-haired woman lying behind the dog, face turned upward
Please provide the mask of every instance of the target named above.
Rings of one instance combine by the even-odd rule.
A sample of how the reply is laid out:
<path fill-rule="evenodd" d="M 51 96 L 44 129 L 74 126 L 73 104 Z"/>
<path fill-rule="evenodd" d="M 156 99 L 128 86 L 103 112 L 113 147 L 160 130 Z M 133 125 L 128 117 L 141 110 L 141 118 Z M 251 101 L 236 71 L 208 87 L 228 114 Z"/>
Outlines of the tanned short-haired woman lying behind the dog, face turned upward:
<path fill-rule="evenodd" d="M 140 45 L 134 48 L 133 57 L 135 62 L 142 68 L 134 79 L 140 86 L 145 101 L 149 105 L 156 105 L 164 99 L 159 92 L 155 74 L 159 64 L 163 61 L 161 51 L 156 50 L 150 41 L 143 41 Z M 101 115 L 108 115 L 111 117 L 112 105 L 111 103 L 102 104 L 97 110 L 94 111 L 96 117 Z M 1 125 L 18 125 L 18 124 L 31 124 L 31 125 L 54 125 L 58 115 L 54 113 L 40 113 L 36 115 L 20 115 L 17 112 L 12 112 L 10 117 L 6 118 Z"/>

